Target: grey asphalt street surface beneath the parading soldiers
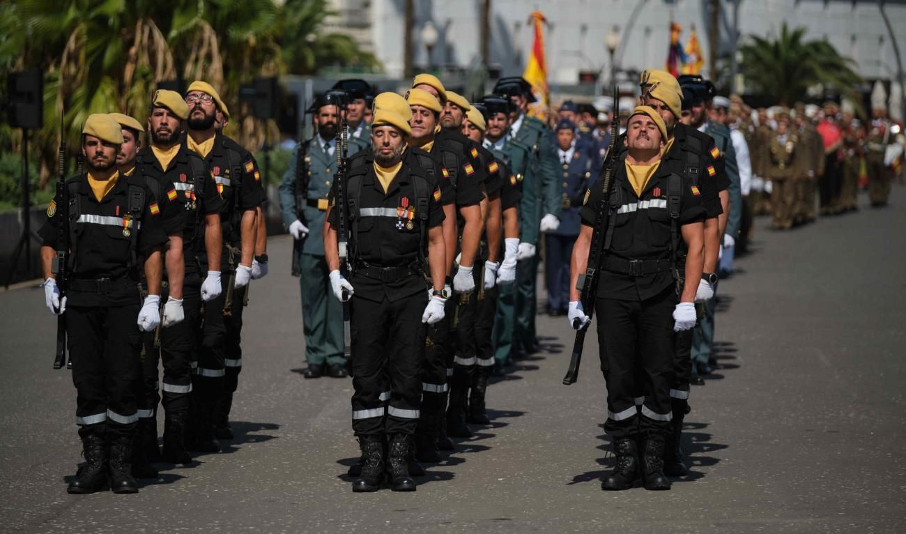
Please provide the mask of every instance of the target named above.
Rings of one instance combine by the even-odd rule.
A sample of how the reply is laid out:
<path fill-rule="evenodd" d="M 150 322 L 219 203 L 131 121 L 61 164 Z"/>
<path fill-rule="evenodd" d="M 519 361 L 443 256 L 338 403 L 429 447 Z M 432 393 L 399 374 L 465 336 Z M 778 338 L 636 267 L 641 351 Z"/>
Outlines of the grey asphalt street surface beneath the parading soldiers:
<path fill-rule="evenodd" d="M 757 222 L 721 282 L 717 374 L 694 387 L 673 490 L 602 492 L 604 384 L 589 335 L 538 317 L 544 353 L 488 393 L 493 424 L 429 467 L 416 493 L 353 494 L 349 380 L 304 380 L 289 238 L 251 289 L 236 440 L 160 464 L 138 495 L 67 495 L 80 461 L 70 374 L 53 371 L 40 288 L 0 293 L 0 531 L 906 531 L 906 189 L 892 207 L 792 232 Z"/>

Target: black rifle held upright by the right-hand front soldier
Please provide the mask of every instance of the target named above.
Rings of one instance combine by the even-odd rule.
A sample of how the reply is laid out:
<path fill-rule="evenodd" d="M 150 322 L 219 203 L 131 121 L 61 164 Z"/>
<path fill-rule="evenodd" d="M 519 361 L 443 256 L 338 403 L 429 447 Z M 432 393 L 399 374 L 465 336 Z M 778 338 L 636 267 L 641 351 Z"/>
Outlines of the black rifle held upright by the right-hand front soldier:
<path fill-rule="evenodd" d="M 616 85 L 613 86 L 613 102 L 619 99 Z M 594 314 L 594 296 L 598 290 L 598 277 L 603 263 L 603 248 L 605 234 L 607 232 L 608 220 L 610 218 L 610 195 L 611 180 L 616 172 L 617 163 L 617 137 L 620 135 L 620 121 L 614 117 L 611 122 L 611 144 L 607 147 L 607 154 L 604 156 L 604 165 L 601 169 L 602 174 L 602 195 L 601 200 L 595 207 L 597 217 L 594 219 L 594 228 L 592 231 L 592 244 L 588 252 L 588 265 L 585 266 L 585 274 L 579 275 L 576 282 L 576 289 L 581 293 L 579 301 L 582 303 L 583 311 L 588 316 L 588 324 L 579 328 L 575 333 L 573 342 L 573 355 L 570 357 L 569 369 L 564 376 L 564 385 L 575 384 L 579 378 L 579 364 L 582 363 L 582 349 L 585 345 L 585 335 L 592 325 L 592 316 Z M 573 328 L 577 327 L 579 319 L 573 322 Z"/>

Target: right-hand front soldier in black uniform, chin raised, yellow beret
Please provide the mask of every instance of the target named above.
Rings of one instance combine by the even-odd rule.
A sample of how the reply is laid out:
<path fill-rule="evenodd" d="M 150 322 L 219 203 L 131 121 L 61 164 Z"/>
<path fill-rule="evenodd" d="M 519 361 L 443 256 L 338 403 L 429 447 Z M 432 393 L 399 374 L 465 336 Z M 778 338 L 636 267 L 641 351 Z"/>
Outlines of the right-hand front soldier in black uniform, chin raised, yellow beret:
<path fill-rule="evenodd" d="M 697 280 L 701 275 L 705 209 L 698 186 L 662 163 L 664 139 L 667 128 L 658 112 L 637 107 L 628 122 L 628 150 L 616 161 L 612 180 L 595 300 L 601 368 L 607 383 L 604 431 L 613 436 L 617 457 L 615 470 L 602 482 L 603 490 L 632 487 L 639 471 L 639 438 L 644 447 L 645 488 L 670 489 L 663 473 L 663 453 L 665 437 L 671 432 L 675 333 L 689 330 L 696 320 L 697 285 L 683 286 L 679 269 L 685 256 L 685 276 Z M 573 248 L 571 269 L 569 320 L 573 326 L 589 320 L 575 285 L 588 266 L 601 197 L 602 188 L 593 185 L 580 214 L 583 228 Z M 636 384 L 640 380 L 641 388 Z M 644 394 L 641 409 L 635 403 L 640 390 Z"/>

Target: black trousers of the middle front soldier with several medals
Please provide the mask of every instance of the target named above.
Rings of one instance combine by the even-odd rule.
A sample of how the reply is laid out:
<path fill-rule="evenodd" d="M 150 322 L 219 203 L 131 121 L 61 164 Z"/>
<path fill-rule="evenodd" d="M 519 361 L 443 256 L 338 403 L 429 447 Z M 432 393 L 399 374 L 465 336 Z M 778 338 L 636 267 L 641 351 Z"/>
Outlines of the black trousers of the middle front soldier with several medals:
<path fill-rule="evenodd" d="M 355 435 L 415 432 L 419 420 L 428 305 L 425 291 L 390 302 L 353 295 L 352 431 Z"/>

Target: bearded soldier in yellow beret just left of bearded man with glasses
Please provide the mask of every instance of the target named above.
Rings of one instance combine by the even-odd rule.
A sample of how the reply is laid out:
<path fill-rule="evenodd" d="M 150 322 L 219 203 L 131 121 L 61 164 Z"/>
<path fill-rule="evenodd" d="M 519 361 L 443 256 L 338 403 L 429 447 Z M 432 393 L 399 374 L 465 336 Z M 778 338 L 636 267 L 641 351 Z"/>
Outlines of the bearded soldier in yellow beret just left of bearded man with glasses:
<path fill-rule="evenodd" d="M 151 142 L 141 150 L 137 166 L 141 176 L 156 187 L 161 198 L 178 206 L 181 212 L 177 232 L 171 233 L 164 255 L 166 283 L 162 328 L 145 336 L 143 373 L 149 413 L 140 421 L 140 432 L 146 451 L 164 461 L 188 463 L 184 434 L 187 431 L 189 393 L 192 391 L 192 369 L 198 364 L 202 301 L 210 301 L 220 293 L 217 275 L 209 275 L 202 286 L 201 264 L 198 260 L 202 243 L 207 248 L 207 264 L 220 261 L 220 212 L 224 201 L 217 194 L 217 184 L 211 178 L 207 163 L 180 142 L 181 123 L 188 119 L 188 106 L 178 92 L 158 91 L 152 99 L 148 129 Z M 204 295 L 202 293 L 204 292 Z M 185 320 L 170 326 L 167 317 L 173 313 Z M 164 418 L 164 446 L 157 450 L 157 420 L 159 401 L 158 358 L 164 375 L 160 383 Z"/>

